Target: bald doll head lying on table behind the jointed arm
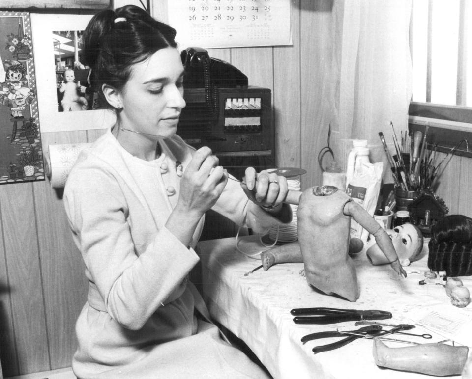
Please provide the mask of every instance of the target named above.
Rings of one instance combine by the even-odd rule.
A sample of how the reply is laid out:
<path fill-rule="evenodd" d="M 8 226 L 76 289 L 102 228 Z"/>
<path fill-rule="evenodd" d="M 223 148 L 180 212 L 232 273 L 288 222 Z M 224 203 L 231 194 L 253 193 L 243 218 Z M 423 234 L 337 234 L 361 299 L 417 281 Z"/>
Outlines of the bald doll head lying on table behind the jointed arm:
<path fill-rule="evenodd" d="M 385 231 L 392 240 L 402 266 L 408 266 L 416 260 L 423 249 L 423 235 L 416 226 L 406 223 Z M 367 249 L 367 256 L 374 265 L 389 263 L 377 244 Z"/>

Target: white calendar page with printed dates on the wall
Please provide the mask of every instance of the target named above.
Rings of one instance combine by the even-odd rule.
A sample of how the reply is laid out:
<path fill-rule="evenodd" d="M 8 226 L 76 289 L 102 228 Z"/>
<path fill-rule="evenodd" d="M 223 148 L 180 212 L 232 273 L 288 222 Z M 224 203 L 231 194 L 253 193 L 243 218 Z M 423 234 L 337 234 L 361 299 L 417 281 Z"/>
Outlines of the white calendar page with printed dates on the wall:
<path fill-rule="evenodd" d="M 181 49 L 291 45 L 290 0 L 168 0 Z"/>

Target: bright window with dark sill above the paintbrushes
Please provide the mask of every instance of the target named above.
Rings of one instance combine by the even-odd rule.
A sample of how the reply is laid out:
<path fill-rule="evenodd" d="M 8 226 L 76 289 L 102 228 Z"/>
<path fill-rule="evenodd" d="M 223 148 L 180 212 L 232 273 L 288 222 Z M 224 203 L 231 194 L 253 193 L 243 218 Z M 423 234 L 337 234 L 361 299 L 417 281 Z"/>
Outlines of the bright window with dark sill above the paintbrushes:
<path fill-rule="evenodd" d="M 472 1 L 412 2 L 410 127 L 436 128 L 429 142 L 446 148 L 462 139 L 472 143 Z"/>

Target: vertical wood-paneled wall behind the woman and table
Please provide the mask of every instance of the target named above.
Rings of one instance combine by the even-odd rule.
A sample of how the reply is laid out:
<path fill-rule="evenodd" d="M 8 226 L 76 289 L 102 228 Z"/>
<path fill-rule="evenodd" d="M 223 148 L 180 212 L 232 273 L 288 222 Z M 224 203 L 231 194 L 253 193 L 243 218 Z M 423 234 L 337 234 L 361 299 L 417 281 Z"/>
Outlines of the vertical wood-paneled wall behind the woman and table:
<path fill-rule="evenodd" d="M 276 157 L 301 167 L 302 189 L 321 183 L 318 152 L 326 146 L 334 0 L 292 0 L 293 46 L 215 49 L 251 85 L 273 94 Z M 103 131 L 44 133 L 50 144 L 92 142 Z M 359 136 L 361 138 L 362 136 Z M 472 216 L 472 162 L 454 158 L 439 188 L 450 213 Z M 75 320 L 87 285 L 61 193 L 49 182 L 0 186 L 0 356 L 5 376 L 70 366 Z"/>

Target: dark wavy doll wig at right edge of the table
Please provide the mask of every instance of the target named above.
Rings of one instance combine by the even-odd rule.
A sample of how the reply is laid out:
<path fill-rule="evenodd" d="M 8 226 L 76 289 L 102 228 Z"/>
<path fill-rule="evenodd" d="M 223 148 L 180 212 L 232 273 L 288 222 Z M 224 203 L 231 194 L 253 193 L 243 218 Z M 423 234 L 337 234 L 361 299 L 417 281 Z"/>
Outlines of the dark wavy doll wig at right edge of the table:
<path fill-rule="evenodd" d="M 450 215 L 431 227 L 428 267 L 447 276 L 472 275 L 472 218 Z"/>

